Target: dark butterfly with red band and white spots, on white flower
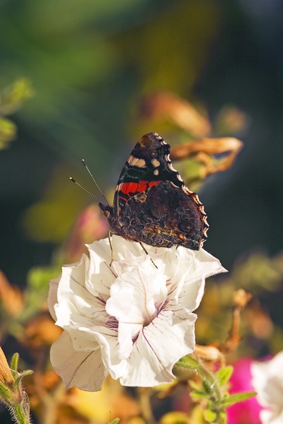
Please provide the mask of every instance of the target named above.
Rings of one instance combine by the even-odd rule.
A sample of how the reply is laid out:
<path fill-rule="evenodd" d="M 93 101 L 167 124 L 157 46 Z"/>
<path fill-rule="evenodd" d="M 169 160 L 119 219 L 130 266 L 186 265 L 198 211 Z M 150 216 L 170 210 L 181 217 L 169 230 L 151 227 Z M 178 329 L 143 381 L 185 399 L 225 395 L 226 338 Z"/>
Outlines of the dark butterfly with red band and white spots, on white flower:
<path fill-rule="evenodd" d="M 207 239 L 207 215 L 169 153 L 169 144 L 158 134 L 142 136 L 121 172 L 113 207 L 99 206 L 113 234 L 156 247 L 198 250 Z"/>

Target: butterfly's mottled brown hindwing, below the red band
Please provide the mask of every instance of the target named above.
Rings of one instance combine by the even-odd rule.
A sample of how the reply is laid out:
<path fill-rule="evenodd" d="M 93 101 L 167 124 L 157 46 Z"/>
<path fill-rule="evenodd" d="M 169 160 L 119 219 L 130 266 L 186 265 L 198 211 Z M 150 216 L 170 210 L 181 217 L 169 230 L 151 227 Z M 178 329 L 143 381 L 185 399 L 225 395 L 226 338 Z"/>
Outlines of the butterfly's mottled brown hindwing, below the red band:
<path fill-rule="evenodd" d="M 208 228 L 200 205 L 172 182 L 163 181 L 127 201 L 118 218 L 120 234 L 152 246 L 198 250 Z"/>

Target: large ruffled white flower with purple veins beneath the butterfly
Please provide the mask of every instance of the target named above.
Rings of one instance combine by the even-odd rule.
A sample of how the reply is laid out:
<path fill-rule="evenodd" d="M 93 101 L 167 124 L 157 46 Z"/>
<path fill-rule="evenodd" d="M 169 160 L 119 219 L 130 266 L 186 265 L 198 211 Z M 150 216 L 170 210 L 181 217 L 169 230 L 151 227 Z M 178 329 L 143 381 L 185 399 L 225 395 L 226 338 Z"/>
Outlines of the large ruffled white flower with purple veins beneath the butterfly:
<path fill-rule="evenodd" d="M 67 387 L 90 391 L 107 375 L 125 386 L 171 382 L 173 365 L 195 348 L 204 278 L 226 270 L 203 249 L 146 246 L 146 255 L 115 235 L 112 245 L 111 267 L 100 240 L 50 283 L 50 312 L 64 329 L 51 348 L 54 370 Z"/>

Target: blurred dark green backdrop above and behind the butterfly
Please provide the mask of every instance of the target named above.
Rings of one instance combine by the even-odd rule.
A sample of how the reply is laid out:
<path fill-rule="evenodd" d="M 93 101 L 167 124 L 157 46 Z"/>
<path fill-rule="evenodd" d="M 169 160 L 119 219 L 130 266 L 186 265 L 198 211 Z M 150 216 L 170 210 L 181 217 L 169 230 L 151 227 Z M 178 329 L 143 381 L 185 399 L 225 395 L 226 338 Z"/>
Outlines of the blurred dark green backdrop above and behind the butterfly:
<path fill-rule="evenodd" d="M 281 6 L 280 0 L 1 1 L 1 100 L 15 81 L 25 98 L 20 108 L 16 102 L 0 109 L 17 127 L 16 139 L 0 151 L 0 268 L 11 283 L 24 286 L 31 267 L 49 265 L 91 203 L 68 180 L 72 175 L 96 192 L 81 158 L 111 199 L 142 134 L 157 131 L 174 143 L 168 124 L 152 127 L 139 112 L 144 95 L 163 91 L 197 105 L 212 124 L 227 106 L 249 123 L 232 134 L 244 148 L 231 170 L 202 186 L 210 224 L 204 248 L 227 269 L 255 250 L 272 256 L 282 249 Z M 268 301 L 282 322 L 278 293 Z"/>

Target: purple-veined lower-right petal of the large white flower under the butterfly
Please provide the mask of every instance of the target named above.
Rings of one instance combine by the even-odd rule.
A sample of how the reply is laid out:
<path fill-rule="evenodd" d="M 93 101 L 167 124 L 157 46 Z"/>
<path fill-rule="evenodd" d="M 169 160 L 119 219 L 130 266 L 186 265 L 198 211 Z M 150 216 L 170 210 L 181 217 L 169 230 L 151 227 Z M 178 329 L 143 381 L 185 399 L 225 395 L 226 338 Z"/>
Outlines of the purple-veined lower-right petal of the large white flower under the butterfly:
<path fill-rule="evenodd" d="M 197 316 L 180 311 L 162 311 L 154 322 L 139 332 L 129 358 L 125 386 L 152 387 L 171 382 L 173 365 L 195 349 L 194 324 Z"/>

